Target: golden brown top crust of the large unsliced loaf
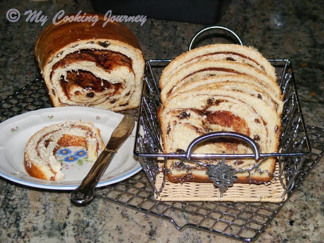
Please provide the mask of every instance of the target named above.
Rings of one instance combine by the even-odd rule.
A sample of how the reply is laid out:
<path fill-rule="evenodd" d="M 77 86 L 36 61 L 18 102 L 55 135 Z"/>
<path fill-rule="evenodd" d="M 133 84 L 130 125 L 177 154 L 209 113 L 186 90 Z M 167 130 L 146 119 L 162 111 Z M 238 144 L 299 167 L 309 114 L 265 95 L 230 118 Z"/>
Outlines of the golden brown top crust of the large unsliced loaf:
<path fill-rule="evenodd" d="M 46 62 L 59 50 L 70 43 L 77 41 L 96 41 L 96 39 L 112 39 L 123 42 L 136 49 L 141 49 L 135 35 L 123 24 L 117 22 L 107 22 L 105 27 L 104 16 L 98 15 L 99 20 L 93 24 L 89 22 L 61 22 L 51 23 L 38 36 L 34 55 L 42 70 Z"/>

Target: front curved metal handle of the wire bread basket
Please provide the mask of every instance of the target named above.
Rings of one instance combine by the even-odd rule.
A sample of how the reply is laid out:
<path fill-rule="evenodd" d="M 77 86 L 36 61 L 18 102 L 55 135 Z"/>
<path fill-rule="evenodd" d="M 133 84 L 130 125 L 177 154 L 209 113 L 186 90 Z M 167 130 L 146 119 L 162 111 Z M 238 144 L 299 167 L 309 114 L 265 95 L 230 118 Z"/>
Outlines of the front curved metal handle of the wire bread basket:
<path fill-rule="evenodd" d="M 251 145 L 251 147 L 254 150 L 254 158 L 258 160 L 260 158 L 260 150 L 257 145 L 257 143 L 247 135 L 241 134 L 241 133 L 236 133 L 236 132 L 230 132 L 230 131 L 225 131 L 225 132 L 212 132 L 212 133 L 207 133 L 204 135 L 201 135 L 194 140 L 191 141 L 191 143 L 188 145 L 187 152 L 186 152 L 186 158 L 190 160 L 190 157 L 192 155 L 192 151 L 196 145 L 203 141 L 207 141 L 212 138 L 218 138 L 218 137 L 231 137 L 231 138 L 237 138 L 242 141 L 247 142 L 248 144 Z"/>

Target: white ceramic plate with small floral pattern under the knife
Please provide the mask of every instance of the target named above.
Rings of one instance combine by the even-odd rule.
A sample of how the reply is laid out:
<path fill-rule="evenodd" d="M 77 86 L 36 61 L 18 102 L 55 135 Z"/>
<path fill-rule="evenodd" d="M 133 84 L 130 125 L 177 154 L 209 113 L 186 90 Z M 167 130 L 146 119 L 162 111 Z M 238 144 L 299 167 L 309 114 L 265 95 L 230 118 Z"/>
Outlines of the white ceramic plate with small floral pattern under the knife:
<path fill-rule="evenodd" d="M 63 162 L 62 172 L 65 174 L 65 180 L 61 182 L 33 178 L 23 166 L 24 149 L 28 139 L 43 127 L 66 120 L 83 120 L 94 123 L 100 129 L 106 144 L 121 118 L 122 114 L 112 111 L 69 106 L 39 109 L 5 120 L 0 124 L 0 176 L 31 187 L 72 190 L 87 175 L 92 163 L 82 160 Z M 133 155 L 134 141 L 135 128 L 113 157 L 98 187 L 125 180 L 142 169 Z"/>

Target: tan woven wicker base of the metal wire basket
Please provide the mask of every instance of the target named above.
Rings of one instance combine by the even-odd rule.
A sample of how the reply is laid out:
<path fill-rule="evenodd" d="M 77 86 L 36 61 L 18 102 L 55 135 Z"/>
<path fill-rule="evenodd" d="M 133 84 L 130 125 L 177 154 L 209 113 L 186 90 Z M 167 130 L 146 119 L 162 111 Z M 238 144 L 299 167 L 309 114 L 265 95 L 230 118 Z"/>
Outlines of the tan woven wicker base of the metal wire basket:
<path fill-rule="evenodd" d="M 155 187 L 160 188 L 164 182 L 163 173 L 156 176 Z M 220 192 L 213 183 L 172 183 L 165 181 L 163 190 L 154 198 L 160 201 L 268 201 L 279 202 L 283 198 L 285 189 L 279 179 L 273 179 L 269 185 L 233 184 L 220 197 Z"/>

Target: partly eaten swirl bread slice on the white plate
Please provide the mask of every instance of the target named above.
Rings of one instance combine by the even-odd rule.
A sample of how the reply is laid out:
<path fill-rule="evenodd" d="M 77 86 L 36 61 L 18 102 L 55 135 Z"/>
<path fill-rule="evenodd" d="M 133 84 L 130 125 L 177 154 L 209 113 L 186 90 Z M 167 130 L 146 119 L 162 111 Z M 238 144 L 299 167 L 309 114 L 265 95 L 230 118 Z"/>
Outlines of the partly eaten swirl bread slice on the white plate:
<path fill-rule="evenodd" d="M 78 146 L 87 150 L 94 161 L 104 148 L 98 128 L 85 121 L 65 121 L 45 127 L 33 134 L 25 146 L 24 167 L 35 178 L 62 181 L 62 165 L 56 160 L 59 148 Z"/>

